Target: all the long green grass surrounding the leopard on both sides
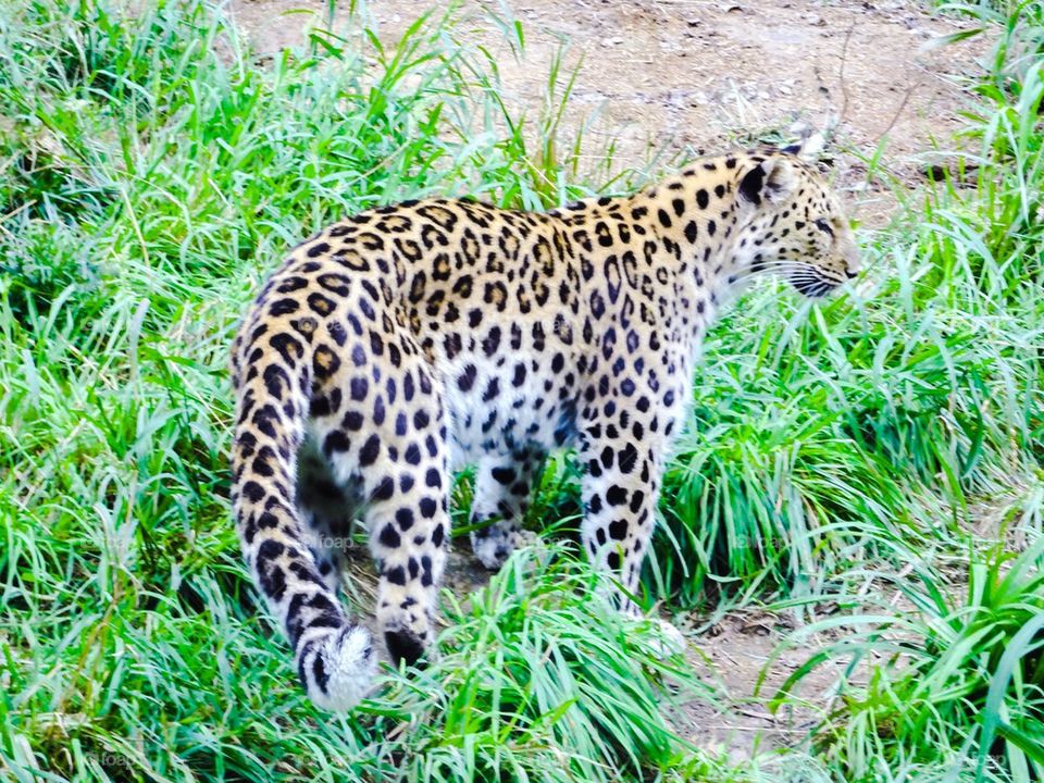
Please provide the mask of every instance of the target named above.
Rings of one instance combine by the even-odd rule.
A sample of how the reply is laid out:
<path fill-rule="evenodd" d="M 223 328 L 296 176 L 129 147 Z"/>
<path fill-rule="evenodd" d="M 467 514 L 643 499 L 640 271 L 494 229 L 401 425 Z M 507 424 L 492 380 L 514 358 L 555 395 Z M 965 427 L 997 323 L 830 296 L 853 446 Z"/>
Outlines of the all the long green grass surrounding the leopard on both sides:
<path fill-rule="evenodd" d="M 829 636 L 810 667 L 859 662 L 794 755 L 737 766 L 678 730 L 678 704 L 723 695 L 586 597 L 567 542 L 468 606 L 446 595 L 430 669 L 321 714 L 229 521 L 228 343 L 287 246 L 427 194 L 538 209 L 629 187 L 611 146 L 592 162 L 562 135 L 561 58 L 524 117 L 456 11 L 394 48 L 320 30 L 258 66 L 202 0 L 134 17 L 9 2 L 0 774 L 1040 780 L 1042 7 L 946 10 L 1003 33 L 954 175 L 863 234 L 844 296 L 761 287 L 726 315 L 666 481 L 650 606 L 774 602 Z M 512 20 L 483 24 L 524 48 Z M 568 455 L 544 476 L 532 514 L 551 538 L 576 526 L 577 476 Z M 877 588 L 904 600 L 877 606 Z"/>

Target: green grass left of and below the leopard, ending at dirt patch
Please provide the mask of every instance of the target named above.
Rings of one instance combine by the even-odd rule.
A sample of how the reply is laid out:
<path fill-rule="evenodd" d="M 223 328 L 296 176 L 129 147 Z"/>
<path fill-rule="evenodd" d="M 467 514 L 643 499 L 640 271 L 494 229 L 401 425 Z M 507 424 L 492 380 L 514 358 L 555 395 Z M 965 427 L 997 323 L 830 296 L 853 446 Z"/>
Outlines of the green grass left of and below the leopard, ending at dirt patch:
<path fill-rule="evenodd" d="M 550 142 L 560 109 L 508 114 L 492 63 L 449 17 L 395 49 L 371 40 L 374 67 L 319 34 L 311 53 L 256 69 L 201 2 L 137 18 L 22 2 L 0 24 L 4 773 L 717 769 L 661 710 L 707 689 L 656 660 L 655 630 L 581 597 L 593 577 L 568 558 L 513 560 L 470 609 L 448 607 L 431 669 L 389 674 L 351 719 L 316 713 L 228 520 L 227 346 L 272 262 L 378 202 L 467 191 L 538 208 L 593 192 L 568 184 L 575 153 Z M 549 91 L 568 94 L 562 78 Z"/>

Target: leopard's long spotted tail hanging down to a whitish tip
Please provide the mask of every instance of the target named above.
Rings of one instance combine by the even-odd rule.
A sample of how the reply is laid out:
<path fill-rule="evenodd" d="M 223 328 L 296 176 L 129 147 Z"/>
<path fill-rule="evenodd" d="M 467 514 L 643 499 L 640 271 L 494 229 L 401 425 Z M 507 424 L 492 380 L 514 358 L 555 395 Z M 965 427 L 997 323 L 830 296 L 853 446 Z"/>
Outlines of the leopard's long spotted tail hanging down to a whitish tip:
<path fill-rule="evenodd" d="M 244 556 L 279 618 L 309 698 L 344 711 L 371 687 L 370 632 L 352 622 L 316 568 L 295 498 L 297 453 L 310 407 L 308 324 L 262 295 L 233 349 L 236 424 L 232 501 Z M 315 324 L 312 322 L 311 327 Z"/>

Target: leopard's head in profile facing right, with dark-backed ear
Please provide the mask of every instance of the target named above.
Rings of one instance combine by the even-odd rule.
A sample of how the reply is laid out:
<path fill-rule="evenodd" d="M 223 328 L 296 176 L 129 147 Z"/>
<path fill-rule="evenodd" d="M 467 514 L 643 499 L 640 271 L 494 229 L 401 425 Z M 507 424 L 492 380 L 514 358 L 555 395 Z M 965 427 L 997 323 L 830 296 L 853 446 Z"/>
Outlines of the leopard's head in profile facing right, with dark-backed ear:
<path fill-rule="evenodd" d="M 805 296 L 821 297 L 858 274 L 859 249 L 841 202 L 799 149 L 753 156 L 738 196 L 737 278 L 774 273 Z"/>

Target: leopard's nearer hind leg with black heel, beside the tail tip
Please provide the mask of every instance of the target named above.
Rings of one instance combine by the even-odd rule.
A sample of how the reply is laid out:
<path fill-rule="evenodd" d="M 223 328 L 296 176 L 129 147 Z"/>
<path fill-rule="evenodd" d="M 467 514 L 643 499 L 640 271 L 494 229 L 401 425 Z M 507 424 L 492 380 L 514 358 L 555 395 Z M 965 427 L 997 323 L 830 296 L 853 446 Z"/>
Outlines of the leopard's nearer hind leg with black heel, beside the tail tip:
<path fill-rule="evenodd" d="M 358 475 L 361 515 L 380 573 L 377 625 L 395 661 L 415 662 L 434 638 L 438 582 L 449 538 L 449 474 L 443 398 L 408 335 L 386 338 L 389 361 L 371 362 L 370 340 L 349 338 L 345 362 L 321 399 L 336 411 L 312 431 L 340 483 Z M 401 347 L 400 347 L 401 346 Z"/>

